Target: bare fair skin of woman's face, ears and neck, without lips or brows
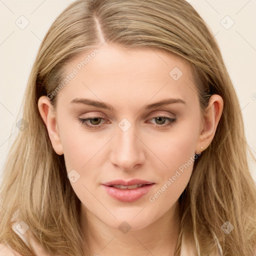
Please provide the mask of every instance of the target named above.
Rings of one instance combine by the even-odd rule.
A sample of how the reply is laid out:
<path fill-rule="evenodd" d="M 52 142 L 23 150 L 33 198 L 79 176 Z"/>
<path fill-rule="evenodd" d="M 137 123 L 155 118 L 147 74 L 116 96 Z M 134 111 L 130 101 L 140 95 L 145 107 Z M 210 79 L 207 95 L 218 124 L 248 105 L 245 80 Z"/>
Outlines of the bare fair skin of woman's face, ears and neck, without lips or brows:
<path fill-rule="evenodd" d="M 223 100 L 212 95 L 202 118 L 191 69 L 180 58 L 156 49 L 127 50 L 106 43 L 98 50 L 58 92 L 55 112 L 46 96 L 38 101 L 55 152 L 64 154 L 68 173 L 74 169 L 79 174 L 71 185 L 82 202 L 83 234 L 92 255 L 173 256 L 179 225 L 177 200 L 193 168 L 189 159 L 212 141 Z M 63 75 L 88 53 L 68 63 Z M 182 71 L 180 77 L 174 76 L 176 80 L 169 74 L 174 67 Z M 74 98 L 106 102 L 113 109 L 70 103 Z M 185 103 L 145 108 L 166 98 Z M 176 120 L 171 123 L 157 116 Z M 95 129 L 78 120 L 96 117 L 102 119 L 86 121 L 101 125 Z M 131 126 L 123 131 L 119 123 Z M 184 163 L 189 166 L 177 176 Z M 111 197 L 102 185 L 133 178 L 155 183 L 133 202 Z M 154 196 L 159 189 L 164 191 Z M 124 233 L 120 224 L 130 229 Z"/>

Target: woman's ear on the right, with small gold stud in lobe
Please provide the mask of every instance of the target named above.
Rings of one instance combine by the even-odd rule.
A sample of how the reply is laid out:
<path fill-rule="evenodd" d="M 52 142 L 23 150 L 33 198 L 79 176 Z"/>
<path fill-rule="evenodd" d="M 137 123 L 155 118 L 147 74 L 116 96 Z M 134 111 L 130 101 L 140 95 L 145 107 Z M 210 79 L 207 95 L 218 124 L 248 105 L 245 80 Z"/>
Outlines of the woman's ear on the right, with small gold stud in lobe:
<path fill-rule="evenodd" d="M 223 110 L 223 99 L 220 95 L 213 94 L 209 98 L 208 105 L 204 110 L 202 124 L 196 143 L 197 152 L 208 147 L 212 141 L 220 116 Z M 202 148 L 201 148 L 202 147 Z"/>

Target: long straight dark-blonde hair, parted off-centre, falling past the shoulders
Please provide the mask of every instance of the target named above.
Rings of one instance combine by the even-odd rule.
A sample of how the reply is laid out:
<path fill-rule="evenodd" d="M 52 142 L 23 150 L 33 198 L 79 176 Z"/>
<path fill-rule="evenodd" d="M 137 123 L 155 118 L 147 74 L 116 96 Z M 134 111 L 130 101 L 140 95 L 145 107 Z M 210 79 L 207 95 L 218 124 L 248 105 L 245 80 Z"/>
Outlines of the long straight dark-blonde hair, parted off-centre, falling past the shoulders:
<path fill-rule="evenodd" d="M 223 98 L 215 136 L 195 160 L 179 197 L 176 255 L 186 232 L 193 235 L 198 255 L 208 255 L 216 241 L 223 255 L 253 255 L 256 188 L 247 164 L 251 151 L 239 102 L 212 32 L 185 0 L 78 0 L 56 18 L 39 47 L 23 98 L 22 117 L 28 127 L 19 131 L 4 165 L 0 242 L 24 256 L 33 255 L 11 229 L 11 216 L 19 210 L 50 254 L 89 255 L 79 224 L 81 202 L 66 176 L 63 155 L 52 148 L 37 102 L 61 82 L 68 61 L 104 41 L 127 49 L 158 48 L 181 57 L 194 70 L 201 113 L 210 95 Z M 53 106 L 56 98 L 51 99 Z M 225 221 L 234 227 L 229 234 L 221 229 Z"/>

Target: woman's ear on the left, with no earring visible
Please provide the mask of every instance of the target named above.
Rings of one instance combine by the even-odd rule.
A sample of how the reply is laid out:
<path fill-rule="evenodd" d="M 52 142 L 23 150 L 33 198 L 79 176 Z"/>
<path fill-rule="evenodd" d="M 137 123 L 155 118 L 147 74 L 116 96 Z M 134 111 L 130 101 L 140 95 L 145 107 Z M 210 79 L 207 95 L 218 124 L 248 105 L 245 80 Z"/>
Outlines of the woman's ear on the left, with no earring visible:
<path fill-rule="evenodd" d="M 60 136 L 58 133 L 57 122 L 55 112 L 53 111 L 53 107 L 51 105 L 50 100 L 46 96 L 41 96 L 38 99 L 38 109 L 40 115 L 47 127 L 47 131 L 49 134 L 49 138 L 53 149 L 59 155 L 63 154 L 63 148 L 60 141 Z"/>

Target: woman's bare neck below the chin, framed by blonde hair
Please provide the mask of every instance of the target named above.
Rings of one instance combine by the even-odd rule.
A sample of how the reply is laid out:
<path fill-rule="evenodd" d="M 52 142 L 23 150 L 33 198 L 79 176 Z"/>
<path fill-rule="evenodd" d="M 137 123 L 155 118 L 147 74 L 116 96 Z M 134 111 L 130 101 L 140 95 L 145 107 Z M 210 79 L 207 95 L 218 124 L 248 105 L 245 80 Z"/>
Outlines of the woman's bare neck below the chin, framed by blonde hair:
<path fill-rule="evenodd" d="M 95 256 L 174 256 L 178 239 L 178 202 L 165 214 L 139 230 L 121 232 L 81 207 L 81 228 Z"/>

